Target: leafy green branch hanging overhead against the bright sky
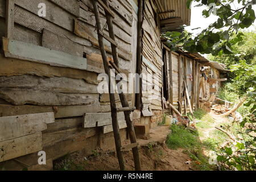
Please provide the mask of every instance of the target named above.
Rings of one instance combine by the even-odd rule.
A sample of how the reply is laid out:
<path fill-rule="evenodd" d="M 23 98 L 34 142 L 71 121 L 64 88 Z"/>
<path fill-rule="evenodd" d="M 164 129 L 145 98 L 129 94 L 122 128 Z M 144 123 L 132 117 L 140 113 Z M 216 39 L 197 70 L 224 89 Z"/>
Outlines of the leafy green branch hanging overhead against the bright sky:
<path fill-rule="evenodd" d="M 237 1 L 241 7 L 236 9 L 230 6 L 234 1 Z M 199 5 L 196 6 L 206 7 L 203 11 L 205 18 L 214 14 L 218 19 L 195 37 L 187 31 L 166 32 L 162 36 L 167 39 L 171 49 L 182 47 L 189 52 L 230 54 L 232 47 L 243 40 L 243 34 L 239 31 L 250 27 L 255 20 L 252 6 L 256 5 L 256 0 L 188 0 L 189 9 L 192 2 L 198 2 Z M 234 34 L 237 36 L 233 36 Z"/>

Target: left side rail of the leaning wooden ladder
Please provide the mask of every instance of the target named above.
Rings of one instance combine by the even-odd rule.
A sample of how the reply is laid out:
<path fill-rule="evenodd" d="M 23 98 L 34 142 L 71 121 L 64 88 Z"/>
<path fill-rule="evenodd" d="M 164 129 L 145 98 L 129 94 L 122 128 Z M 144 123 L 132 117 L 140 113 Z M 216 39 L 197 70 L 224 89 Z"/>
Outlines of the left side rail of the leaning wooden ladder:
<path fill-rule="evenodd" d="M 110 69 L 108 64 L 108 57 L 106 55 L 106 51 L 104 49 L 104 42 L 103 36 L 100 34 L 100 30 L 102 30 L 101 22 L 100 22 L 100 13 L 98 11 L 97 2 L 92 0 L 93 10 L 95 14 L 96 24 L 97 24 L 97 33 L 98 33 L 98 43 L 100 44 L 101 56 L 103 59 L 105 73 L 109 77 L 109 98 L 110 98 L 110 106 L 111 106 L 111 115 L 112 115 L 112 126 L 114 131 L 114 139 L 115 139 L 115 149 L 117 151 L 117 158 L 119 162 L 119 167 L 121 171 L 125 171 L 125 163 L 123 162 L 123 154 L 121 151 L 121 137 L 119 134 L 119 126 L 117 121 L 117 107 L 115 105 L 115 96 L 114 93 L 111 93 L 112 90 L 112 83 L 111 83 L 111 76 L 110 76 Z"/>

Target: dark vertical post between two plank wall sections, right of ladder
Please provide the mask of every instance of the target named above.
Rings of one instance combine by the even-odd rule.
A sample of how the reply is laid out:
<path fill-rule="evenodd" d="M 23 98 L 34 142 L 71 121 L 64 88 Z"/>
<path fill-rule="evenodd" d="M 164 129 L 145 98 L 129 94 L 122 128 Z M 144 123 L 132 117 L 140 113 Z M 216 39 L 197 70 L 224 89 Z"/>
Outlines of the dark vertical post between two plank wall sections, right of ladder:
<path fill-rule="evenodd" d="M 144 0 L 138 1 L 138 42 L 137 42 L 137 73 L 141 75 L 142 68 L 142 36 L 143 36 L 143 5 Z M 142 109 L 142 79 L 139 79 L 139 93 L 136 94 L 136 107 L 138 110 Z"/>

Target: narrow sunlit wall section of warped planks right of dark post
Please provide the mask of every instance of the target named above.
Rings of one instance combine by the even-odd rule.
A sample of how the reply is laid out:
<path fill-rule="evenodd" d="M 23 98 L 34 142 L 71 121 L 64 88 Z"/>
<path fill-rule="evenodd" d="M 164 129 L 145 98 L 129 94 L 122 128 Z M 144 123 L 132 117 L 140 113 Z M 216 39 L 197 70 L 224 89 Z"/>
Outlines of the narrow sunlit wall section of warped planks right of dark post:
<path fill-rule="evenodd" d="M 152 85 L 144 85 L 144 88 L 152 89 L 152 92 L 142 94 L 143 116 L 159 115 L 162 113 L 162 43 L 160 41 L 159 20 L 155 2 L 144 1 L 143 11 L 143 38 L 142 38 L 142 73 L 154 74 L 157 80 L 152 80 Z M 154 97 L 150 99 L 150 97 Z M 161 121 L 162 117 L 151 118 L 151 122 Z"/>

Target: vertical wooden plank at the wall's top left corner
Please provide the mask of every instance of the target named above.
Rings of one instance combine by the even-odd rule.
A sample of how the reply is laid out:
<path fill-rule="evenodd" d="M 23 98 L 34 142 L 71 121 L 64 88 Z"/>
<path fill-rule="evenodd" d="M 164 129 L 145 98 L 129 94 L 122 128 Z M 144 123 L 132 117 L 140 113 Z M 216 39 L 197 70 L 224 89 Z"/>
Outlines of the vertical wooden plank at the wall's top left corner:
<path fill-rule="evenodd" d="M 14 0 L 6 0 L 6 37 L 13 38 L 14 31 Z"/>

